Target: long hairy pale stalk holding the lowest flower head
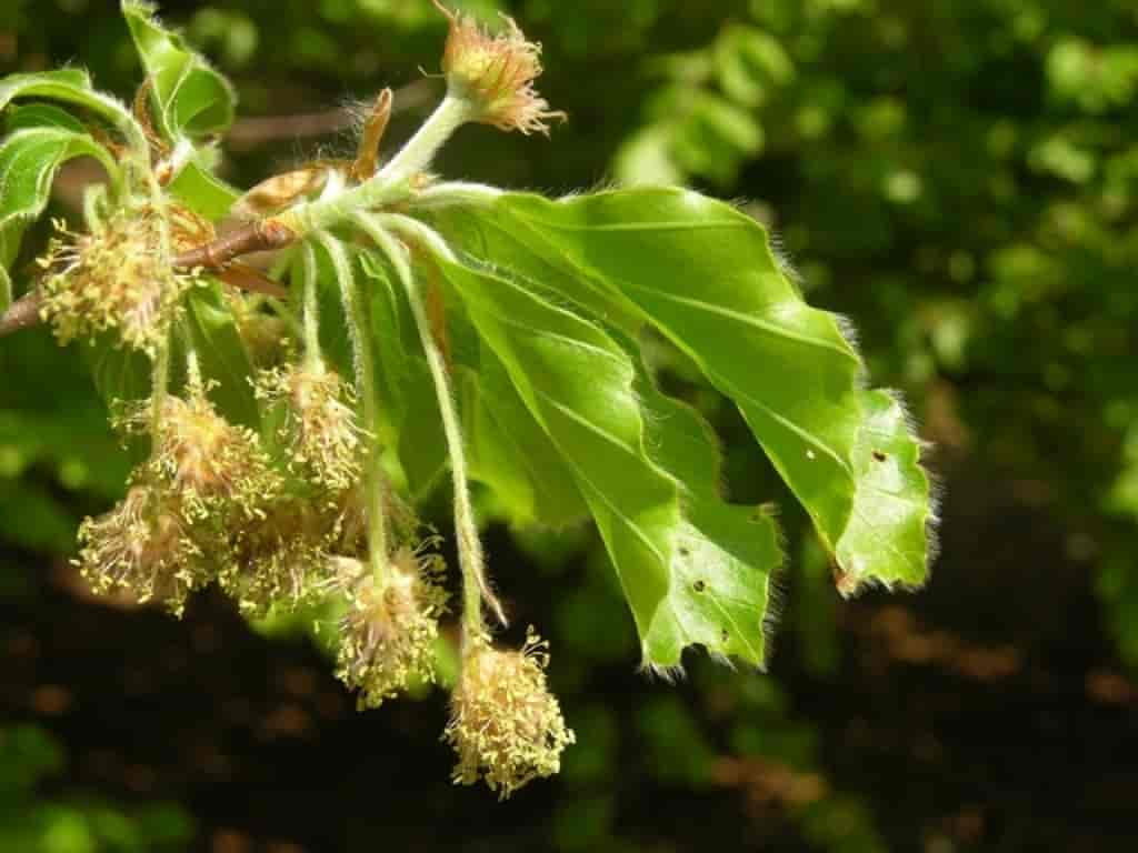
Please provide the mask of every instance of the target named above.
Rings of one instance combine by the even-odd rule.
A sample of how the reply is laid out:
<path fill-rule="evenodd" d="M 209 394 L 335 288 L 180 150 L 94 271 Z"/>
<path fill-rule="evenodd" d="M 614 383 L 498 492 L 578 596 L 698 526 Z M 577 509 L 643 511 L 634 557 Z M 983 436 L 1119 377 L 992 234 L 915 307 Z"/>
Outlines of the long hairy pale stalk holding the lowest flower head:
<path fill-rule="evenodd" d="M 483 554 L 475 511 L 470 503 L 462 429 L 459 412 L 454 405 L 454 396 L 451 391 L 446 363 L 431 334 L 430 321 L 411 272 L 406 247 L 391 237 L 374 218 L 361 214 L 355 220 L 360 227 L 376 241 L 395 270 L 399 283 L 407 293 L 419 339 L 427 355 L 427 364 L 435 382 L 435 394 L 443 416 L 443 430 L 446 433 L 447 450 L 451 456 L 451 475 L 454 480 L 454 525 L 459 544 L 459 564 L 462 569 L 464 636 L 468 639 L 484 636 L 486 627 L 481 616 L 483 602 L 493 611 L 498 622 L 505 624 L 506 619 L 502 611 L 502 604 L 486 579 L 486 557 Z"/>

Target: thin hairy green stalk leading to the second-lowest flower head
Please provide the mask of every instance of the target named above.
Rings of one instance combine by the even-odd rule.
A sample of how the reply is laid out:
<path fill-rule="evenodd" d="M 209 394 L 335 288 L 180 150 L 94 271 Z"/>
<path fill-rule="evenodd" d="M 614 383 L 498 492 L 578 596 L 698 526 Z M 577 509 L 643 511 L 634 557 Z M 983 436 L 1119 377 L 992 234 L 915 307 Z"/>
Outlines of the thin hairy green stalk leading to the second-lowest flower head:
<path fill-rule="evenodd" d="M 363 470 L 368 557 L 376 579 L 376 587 L 381 590 L 387 583 L 388 574 L 387 521 L 384 514 L 384 474 L 379 461 L 379 400 L 376 395 L 376 364 L 371 348 L 368 346 L 365 332 L 368 312 L 360 300 L 352 259 L 344 245 L 327 233 L 321 233 L 316 240 L 328 252 L 336 272 L 336 280 L 340 283 L 340 298 L 344 301 L 344 314 L 347 317 L 348 332 L 352 338 L 352 350 L 356 366 L 356 395 L 363 409 L 364 446 L 366 447 Z M 313 255 L 311 258 L 312 268 L 315 270 L 315 252 L 312 246 L 305 243 L 304 250 L 306 252 L 305 267 L 308 268 L 310 258 L 307 255 L 311 254 Z"/>

